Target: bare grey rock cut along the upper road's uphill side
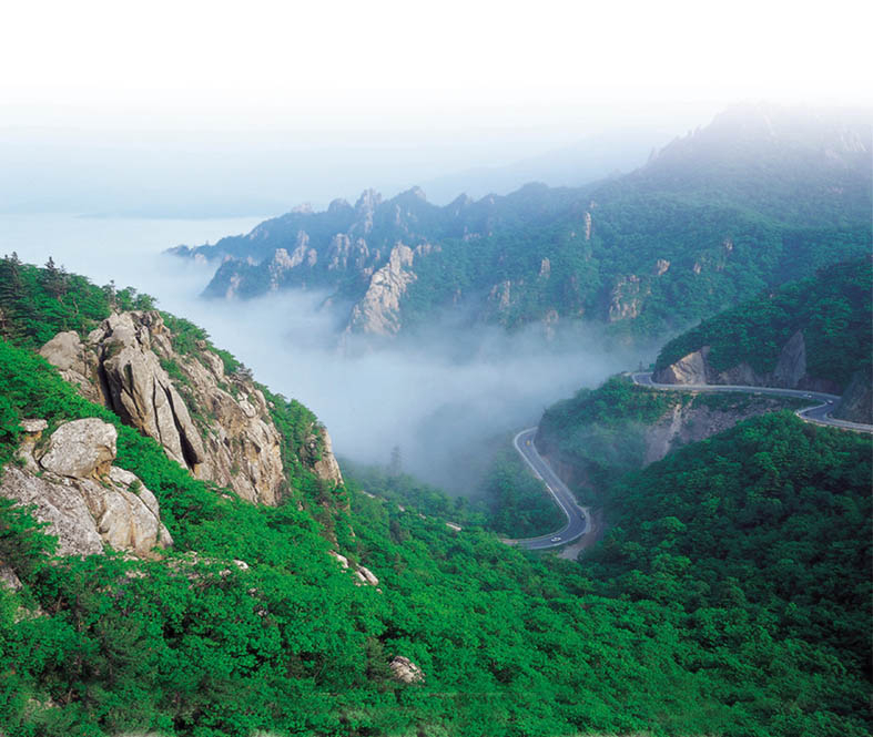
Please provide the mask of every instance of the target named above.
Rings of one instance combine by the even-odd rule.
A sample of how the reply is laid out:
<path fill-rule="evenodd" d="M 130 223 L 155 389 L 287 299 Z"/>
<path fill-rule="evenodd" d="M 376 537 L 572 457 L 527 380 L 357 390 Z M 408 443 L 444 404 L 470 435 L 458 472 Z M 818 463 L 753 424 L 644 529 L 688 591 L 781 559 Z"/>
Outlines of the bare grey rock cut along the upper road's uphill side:
<path fill-rule="evenodd" d="M 745 361 L 719 370 L 712 366 L 710 360 L 710 347 L 703 346 L 656 371 L 652 379 L 658 383 L 721 383 L 839 392 L 839 387 L 834 382 L 809 376 L 806 372 L 806 345 L 801 330 L 794 332 L 782 347 L 779 360 L 772 371 L 755 371 Z"/>

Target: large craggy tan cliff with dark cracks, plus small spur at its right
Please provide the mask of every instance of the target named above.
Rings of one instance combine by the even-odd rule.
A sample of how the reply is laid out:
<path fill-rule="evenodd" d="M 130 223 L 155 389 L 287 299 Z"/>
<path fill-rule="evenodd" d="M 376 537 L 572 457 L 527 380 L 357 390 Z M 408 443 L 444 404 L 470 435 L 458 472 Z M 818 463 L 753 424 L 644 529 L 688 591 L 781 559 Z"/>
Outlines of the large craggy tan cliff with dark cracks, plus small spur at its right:
<path fill-rule="evenodd" d="M 156 311 L 111 315 L 85 340 L 60 332 L 40 354 L 92 401 L 156 440 L 197 478 L 275 505 L 288 488 L 271 403 L 245 370 L 229 372 L 203 340 L 184 340 Z M 313 421 L 298 458 L 341 483 L 326 431 Z M 304 444 L 304 443 L 302 443 Z M 318 447 L 317 462 L 312 448 Z"/>

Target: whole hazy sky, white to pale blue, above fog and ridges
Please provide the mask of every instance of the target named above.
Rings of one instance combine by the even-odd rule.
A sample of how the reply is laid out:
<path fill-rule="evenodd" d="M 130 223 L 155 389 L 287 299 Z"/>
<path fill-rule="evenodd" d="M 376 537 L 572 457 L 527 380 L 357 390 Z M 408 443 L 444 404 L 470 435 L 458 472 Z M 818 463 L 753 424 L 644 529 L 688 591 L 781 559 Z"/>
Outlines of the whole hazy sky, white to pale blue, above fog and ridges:
<path fill-rule="evenodd" d="M 731 102 L 873 99 L 857 1 L 7 6 L 11 212 L 277 214 L 648 131 L 627 171 Z"/>

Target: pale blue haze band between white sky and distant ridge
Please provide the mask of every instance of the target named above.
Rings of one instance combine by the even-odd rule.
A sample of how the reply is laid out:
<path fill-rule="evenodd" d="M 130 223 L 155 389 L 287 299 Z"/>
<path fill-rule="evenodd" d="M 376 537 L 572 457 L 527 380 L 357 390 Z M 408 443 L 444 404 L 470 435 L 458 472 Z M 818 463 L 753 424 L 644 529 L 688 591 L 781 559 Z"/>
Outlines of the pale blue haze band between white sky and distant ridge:
<path fill-rule="evenodd" d="M 652 149 L 714 112 L 700 108 L 427 131 L 396 121 L 383 131 L 104 130 L 92 121 L 3 127 L 0 117 L 0 212 L 280 215 L 303 202 L 316 208 L 335 197 L 354 202 L 369 187 L 392 196 L 422 186 L 432 202 L 446 204 L 463 192 L 506 194 L 530 181 L 580 185 L 642 165 Z"/>

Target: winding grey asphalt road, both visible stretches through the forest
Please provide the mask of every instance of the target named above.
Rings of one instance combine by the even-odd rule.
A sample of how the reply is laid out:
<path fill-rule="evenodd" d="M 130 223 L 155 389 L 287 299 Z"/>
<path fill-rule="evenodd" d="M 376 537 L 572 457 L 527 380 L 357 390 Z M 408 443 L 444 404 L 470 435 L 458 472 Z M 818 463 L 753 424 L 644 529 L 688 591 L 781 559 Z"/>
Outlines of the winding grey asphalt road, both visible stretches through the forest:
<path fill-rule="evenodd" d="M 801 389 L 775 389 L 771 387 L 743 387 L 733 385 L 713 385 L 713 383 L 656 383 L 652 381 L 651 371 L 638 371 L 632 373 L 631 378 L 633 383 L 650 389 L 659 389 L 662 391 L 707 391 L 707 392 L 740 392 L 753 395 L 772 395 L 775 397 L 793 397 L 796 399 L 809 399 L 813 402 L 811 407 L 799 409 L 795 414 L 806 421 L 814 422 L 815 424 L 824 424 L 843 430 L 852 430 L 854 432 L 869 432 L 873 433 L 873 424 L 862 424 L 860 422 L 847 422 L 846 420 L 838 420 L 831 417 L 831 411 L 840 401 L 836 395 L 824 393 L 823 391 L 803 391 Z M 567 484 L 561 481 L 551 467 L 542 459 L 537 452 L 534 444 L 534 438 L 537 434 L 537 428 L 528 428 L 519 432 L 512 444 L 516 450 L 525 459 L 535 475 L 546 484 L 549 493 L 555 499 L 560 510 L 567 516 L 567 524 L 557 532 L 539 538 L 526 538 L 524 540 L 504 540 L 509 545 L 517 545 L 526 550 L 546 550 L 549 547 L 560 547 L 573 540 L 581 538 L 591 525 L 591 515 L 587 506 L 579 506 L 572 492 L 567 488 Z"/>

